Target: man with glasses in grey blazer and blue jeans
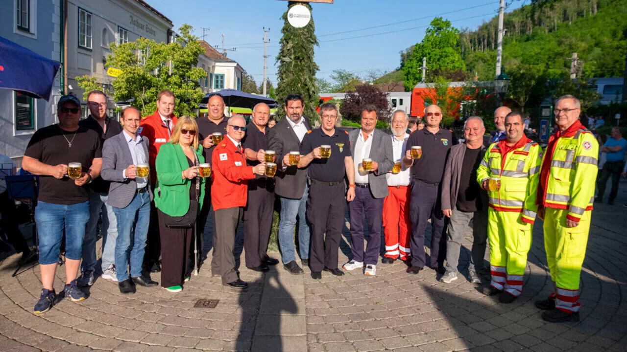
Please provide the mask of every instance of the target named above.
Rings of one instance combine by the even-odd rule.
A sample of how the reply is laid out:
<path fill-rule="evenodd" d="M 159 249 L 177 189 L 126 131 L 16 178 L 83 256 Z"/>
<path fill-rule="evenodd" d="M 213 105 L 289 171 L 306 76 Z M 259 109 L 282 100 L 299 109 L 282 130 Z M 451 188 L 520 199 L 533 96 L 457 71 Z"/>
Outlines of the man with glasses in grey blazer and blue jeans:
<path fill-rule="evenodd" d="M 100 175 L 102 179 L 111 182 L 107 204 L 113 207 L 117 219 L 116 274 L 120 292 L 129 294 L 135 293 L 135 284 L 156 286 L 158 282 L 142 274 L 152 192 L 148 175 L 139 177 L 138 166 L 148 167 L 148 138 L 137 134 L 141 122 L 139 110 L 125 109 L 122 111 L 121 122 L 122 133 L 105 141 Z M 130 249 L 129 277 L 127 267 L 131 243 L 133 248 Z"/>

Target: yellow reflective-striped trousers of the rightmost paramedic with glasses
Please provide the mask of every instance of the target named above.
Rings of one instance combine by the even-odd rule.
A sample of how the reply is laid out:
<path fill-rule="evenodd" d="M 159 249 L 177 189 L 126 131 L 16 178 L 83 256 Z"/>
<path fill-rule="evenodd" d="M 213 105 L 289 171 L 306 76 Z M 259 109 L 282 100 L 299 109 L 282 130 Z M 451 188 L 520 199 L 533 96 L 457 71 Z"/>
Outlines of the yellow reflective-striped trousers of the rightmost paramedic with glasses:
<path fill-rule="evenodd" d="M 586 256 L 591 210 L 581 215 L 579 225 L 566 227 L 566 209 L 547 208 L 544 216 L 544 249 L 551 279 L 556 286 L 556 307 L 579 311 L 579 280 Z M 553 296 L 553 295 L 552 295 Z"/>

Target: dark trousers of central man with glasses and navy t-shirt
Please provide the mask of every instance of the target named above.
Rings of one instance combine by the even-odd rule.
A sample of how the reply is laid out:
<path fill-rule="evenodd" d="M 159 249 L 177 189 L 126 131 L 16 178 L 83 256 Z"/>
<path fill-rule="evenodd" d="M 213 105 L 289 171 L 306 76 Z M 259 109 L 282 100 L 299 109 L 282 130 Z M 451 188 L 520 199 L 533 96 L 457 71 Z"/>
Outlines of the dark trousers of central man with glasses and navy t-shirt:
<path fill-rule="evenodd" d="M 346 199 L 344 182 L 329 185 L 312 180 L 307 199 L 307 219 L 312 224 L 309 266 L 312 271 L 337 269 Z"/>

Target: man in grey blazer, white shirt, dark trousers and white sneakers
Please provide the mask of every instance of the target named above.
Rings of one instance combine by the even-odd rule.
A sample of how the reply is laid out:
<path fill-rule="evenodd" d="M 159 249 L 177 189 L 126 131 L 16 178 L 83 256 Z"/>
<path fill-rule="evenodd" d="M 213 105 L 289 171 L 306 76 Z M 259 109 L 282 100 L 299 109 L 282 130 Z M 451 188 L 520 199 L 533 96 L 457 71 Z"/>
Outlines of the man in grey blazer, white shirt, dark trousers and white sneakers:
<path fill-rule="evenodd" d="M 349 203 L 350 250 L 352 259 L 344 269 L 366 266 L 364 274 L 376 275 L 381 250 L 383 199 L 387 196 L 386 173 L 394 167 L 392 140 L 376 129 L 376 106 L 366 105 L 361 112 L 361 128 L 349 133 L 350 152 L 355 165 L 355 199 Z M 370 160 L 367 160 L 370 159 Z M 364 160 L 372 163 L 364 169 Z M 364 216 L 368 220 L 370 239 L 364 252 Z"/>

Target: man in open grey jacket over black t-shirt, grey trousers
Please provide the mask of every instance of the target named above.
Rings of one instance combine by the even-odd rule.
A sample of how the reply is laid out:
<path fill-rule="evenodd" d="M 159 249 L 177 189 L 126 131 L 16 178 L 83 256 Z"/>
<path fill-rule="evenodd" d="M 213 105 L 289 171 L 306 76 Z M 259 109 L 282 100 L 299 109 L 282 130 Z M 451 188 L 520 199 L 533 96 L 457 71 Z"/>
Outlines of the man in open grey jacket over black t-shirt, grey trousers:
<path fill-rule="evenodd" d="M 442 212 L 450 218 L 446 242 L 446 272 L 440 281 L 447 284 L 457 279 L 461 240 L 473 220 L 472 256 L 468 265 L 468 281 L 480 284 L 488 237 L 488 194 L 477 182 L 477 168 L 483 160 L 487 145 L 483 144 L 483 120 L 472 116 L 464 124 L 466 142 L 451 148 L 442 180 Z"/>

